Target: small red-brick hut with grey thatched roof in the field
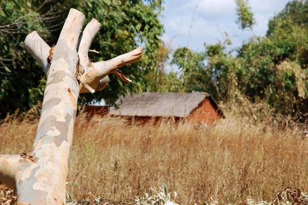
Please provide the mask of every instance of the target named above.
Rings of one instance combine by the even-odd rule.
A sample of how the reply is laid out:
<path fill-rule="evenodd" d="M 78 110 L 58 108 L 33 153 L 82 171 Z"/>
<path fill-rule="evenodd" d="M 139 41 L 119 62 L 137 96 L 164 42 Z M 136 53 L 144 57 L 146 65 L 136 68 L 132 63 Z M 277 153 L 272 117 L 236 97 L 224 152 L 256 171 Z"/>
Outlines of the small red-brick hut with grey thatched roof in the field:
<path fill-rule="evenodd" d="M 213 124 L 224 118 L 223 111 L 208 93 L 143 93 L 120 98 L 110 107 L 111 116 L 133 117 L 134 120 L 147 122 L 162 118 Z"/>

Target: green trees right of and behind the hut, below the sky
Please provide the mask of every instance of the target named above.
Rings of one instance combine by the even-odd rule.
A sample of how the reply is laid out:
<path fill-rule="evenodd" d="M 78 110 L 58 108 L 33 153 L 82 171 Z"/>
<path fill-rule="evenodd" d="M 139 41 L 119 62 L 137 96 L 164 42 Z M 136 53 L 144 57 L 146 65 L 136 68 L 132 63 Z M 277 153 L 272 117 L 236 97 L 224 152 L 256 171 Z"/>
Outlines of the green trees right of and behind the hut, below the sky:
<path fill-rule="evenodd" d="M 307 9 L 308 1 L 288 3 L 269 21 L 265 37 L 254 36 L 240 48 L 227 50 L 232 42 L 226 34 L 223 42 L 205 45 L 202 52 L 177 49 L 171 62 L 182 71 L 182 92 L 209 92 L 223 101 L 246 96 L 264 100 L 283 115 L 302 116 L 308 110 Z M 241 29 L 254 24 L 253 14 L 248 16 Z"/>

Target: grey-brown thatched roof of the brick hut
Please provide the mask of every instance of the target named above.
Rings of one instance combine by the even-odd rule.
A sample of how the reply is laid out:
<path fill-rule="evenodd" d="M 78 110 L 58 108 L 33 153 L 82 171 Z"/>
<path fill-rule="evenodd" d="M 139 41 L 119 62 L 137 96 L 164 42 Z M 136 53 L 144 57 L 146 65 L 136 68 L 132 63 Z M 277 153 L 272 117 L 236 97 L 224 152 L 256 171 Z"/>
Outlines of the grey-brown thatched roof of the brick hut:
<path fill-rule="evenodd" d="M 208 93 L 143 93 L 121 97 L 110 107 L 110 115 L 145 117 L 187 117 L 198 105 L 208 98 L 223 116 L 215 100 Z"/>

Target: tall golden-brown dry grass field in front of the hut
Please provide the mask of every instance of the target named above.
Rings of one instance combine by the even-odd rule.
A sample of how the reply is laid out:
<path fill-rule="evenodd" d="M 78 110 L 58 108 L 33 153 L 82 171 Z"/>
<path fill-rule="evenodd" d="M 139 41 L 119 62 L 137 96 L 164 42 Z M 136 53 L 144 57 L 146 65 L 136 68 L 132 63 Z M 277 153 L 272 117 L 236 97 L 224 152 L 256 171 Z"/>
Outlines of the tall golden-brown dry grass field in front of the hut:
<path fill-rule="evenodd" d="M 0 153 L 30 150 L 36 129 L 27 121 L 3 123 Z M 296 128 L 231 114 L 211 127 L 79 115 L 67 189 L 76 200 L 91 192 L 121 201 L 165 183 L 178 203 L 271 201 L 288 186 L 307 192 L 307 154 L 308 139 Z"/>

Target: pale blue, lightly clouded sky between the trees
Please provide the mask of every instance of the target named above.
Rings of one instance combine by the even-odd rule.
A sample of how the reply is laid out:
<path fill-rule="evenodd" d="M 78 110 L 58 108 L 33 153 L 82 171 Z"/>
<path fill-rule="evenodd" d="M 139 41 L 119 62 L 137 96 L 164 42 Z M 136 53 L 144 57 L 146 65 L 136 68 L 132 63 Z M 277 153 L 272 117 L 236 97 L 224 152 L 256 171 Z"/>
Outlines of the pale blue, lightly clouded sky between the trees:
<path fill-rule="evenodd" d="M 268 19 L 280 12 L 290 0 L 249 0 L 257 25 L 254 32 L 264 36 Z M 163 41 L 176 49 L 187 44 L 192 13 L 199 0 L 165 0 L 161 21 L 165 27 Z M 240 46 L 243 40 L 252 36 L 251 31 L 241 31 L 236 24 L 234 0 L 200 0 L 190 33 L 189 48 L 202 51 L 204 43 L 216 43 L 223 39 L 222 32 L 228 32 L 233 46 Z"/>

